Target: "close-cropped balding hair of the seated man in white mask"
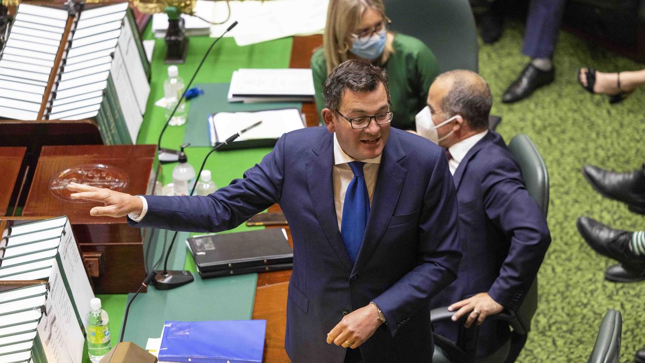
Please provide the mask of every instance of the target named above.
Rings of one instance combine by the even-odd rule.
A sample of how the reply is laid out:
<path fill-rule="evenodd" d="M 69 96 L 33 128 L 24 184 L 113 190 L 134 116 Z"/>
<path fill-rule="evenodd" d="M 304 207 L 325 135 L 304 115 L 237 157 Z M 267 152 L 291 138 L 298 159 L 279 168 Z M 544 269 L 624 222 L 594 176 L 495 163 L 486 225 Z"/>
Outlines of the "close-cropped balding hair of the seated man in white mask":
<path fill-rule="evenodd" d="M 459 114 L 468 120 L 471 129 L 488 129 L 488 115 L 493 105 L 488 83 L 470 70 L 450 70 L 437 77 L 442 78 L 453 81 L 450 91 L 441 100 L 441 109 L 447 118 Z"/>

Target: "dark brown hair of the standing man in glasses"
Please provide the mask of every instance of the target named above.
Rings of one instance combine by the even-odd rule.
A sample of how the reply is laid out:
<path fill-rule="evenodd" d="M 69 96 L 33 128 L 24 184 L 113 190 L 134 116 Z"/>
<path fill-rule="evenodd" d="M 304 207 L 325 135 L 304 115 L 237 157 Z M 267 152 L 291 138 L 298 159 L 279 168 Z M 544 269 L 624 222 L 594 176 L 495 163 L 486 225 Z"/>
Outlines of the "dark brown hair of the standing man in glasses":
<path fill-rule="evenodd" d="M 323 86 L 324 105 L 336 110 L 341 106 L 342 94 L 345 89 L 353 92 L 372 92 L 383 84 L 390 103 L 390 88 L 388 74 L 381 67 L 370 63 L 350 59 L 333 68 Z"/>

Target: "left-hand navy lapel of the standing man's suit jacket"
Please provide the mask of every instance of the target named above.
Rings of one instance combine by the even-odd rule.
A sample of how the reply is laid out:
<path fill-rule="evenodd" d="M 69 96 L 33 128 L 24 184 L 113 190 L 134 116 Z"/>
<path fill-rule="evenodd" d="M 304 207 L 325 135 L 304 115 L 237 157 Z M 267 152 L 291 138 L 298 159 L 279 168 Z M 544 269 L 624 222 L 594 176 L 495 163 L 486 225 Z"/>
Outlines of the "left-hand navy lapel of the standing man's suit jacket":
<path fill-rule="evenodd" d="M 327 241 L 342 264 L 352 270 L 352 262 L 338 230 L 333 195 L 333 135 L 326 135 L 313 148 L 315 158 L 306 163 L 307 183 L 313 210 Z"/>

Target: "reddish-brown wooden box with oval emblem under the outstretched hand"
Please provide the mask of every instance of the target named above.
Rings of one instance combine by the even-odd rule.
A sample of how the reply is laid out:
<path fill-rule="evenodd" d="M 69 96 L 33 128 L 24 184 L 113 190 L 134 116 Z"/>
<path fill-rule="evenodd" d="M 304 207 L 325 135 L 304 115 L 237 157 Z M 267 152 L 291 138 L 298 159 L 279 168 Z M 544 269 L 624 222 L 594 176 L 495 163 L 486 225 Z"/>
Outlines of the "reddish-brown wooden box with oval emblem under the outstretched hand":
<path fill-rule="evenodd" d="M 128 176 L 123 192 L 148 194 L 156 180 L 155 153 L 155 145 L 46 146 L 41 151 L 23 216 L 68 216 L 81 253 L 88 253 L 86 263 L 92 264 L 93 271 L 103 272 L 93 278 L 95 293 L 128 293 L 139 288 L 140 276 L 145 275 L 141 230 L 129 227 L 125 217 L 90 216 L 90 209 L 102 203 L 59 198 L 50 191 L 50 182 L 66 169 L 101 163 Z M 96 266 L 97 262 L 103 265 Z"/>

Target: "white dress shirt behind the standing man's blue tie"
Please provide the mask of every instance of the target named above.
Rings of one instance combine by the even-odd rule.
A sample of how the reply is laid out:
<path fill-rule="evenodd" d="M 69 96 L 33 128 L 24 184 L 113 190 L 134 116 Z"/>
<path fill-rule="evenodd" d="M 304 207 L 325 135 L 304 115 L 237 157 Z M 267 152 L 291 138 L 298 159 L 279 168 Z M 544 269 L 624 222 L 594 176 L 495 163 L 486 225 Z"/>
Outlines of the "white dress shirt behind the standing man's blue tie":
<path fill-rule="evenodd" d="M 363 165 L 363 175 L 365 177 L 365 184 L 367 185 L 367 194 L 370 196 L 370 205 L 372 205 L 372 196 L 374 188 L 376 187 L 376 178 L 379 175 L 379 167 L 381 166 L 381 155 L 373 159 L 359 160 L 365 163 Z M 342 220 L 342 205 L 345 203 L 345 192 L 347 187 L 354 178 L 352 168 L 348 163 L 356 161 L 342 150 L 341 145 L 338 143 L 336 133 L 333 134 L 333 202 L 336 207 L 336 219 L 338 221 L 338 230 L 341 231 Z"/>

